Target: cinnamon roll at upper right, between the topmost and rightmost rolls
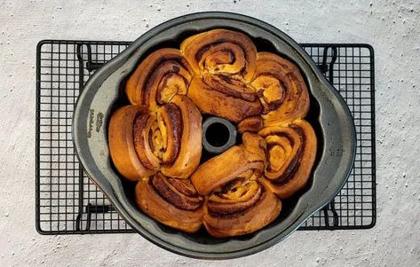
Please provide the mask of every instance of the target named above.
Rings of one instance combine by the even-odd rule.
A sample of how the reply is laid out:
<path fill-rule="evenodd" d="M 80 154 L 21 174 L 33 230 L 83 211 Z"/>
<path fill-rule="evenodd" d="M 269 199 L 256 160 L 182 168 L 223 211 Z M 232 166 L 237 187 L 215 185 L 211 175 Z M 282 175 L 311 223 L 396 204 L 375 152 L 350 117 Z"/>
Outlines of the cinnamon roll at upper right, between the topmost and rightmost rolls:
<path fill-rule="evenodd" d="M 309 110 L 309 94 L 299 69 L 273 53 L 259 52 L 250 83 L 264 106 L 265 126 L 303 118 Z"/>

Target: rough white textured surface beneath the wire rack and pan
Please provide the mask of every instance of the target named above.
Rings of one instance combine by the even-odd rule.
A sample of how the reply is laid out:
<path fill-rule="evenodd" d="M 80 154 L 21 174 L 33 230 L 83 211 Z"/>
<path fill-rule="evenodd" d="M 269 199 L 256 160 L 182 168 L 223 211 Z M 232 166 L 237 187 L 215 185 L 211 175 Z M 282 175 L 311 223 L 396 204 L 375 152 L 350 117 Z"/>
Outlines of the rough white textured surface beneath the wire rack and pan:
<path fill-rule="evenodd" d="M 420 4 L 258 2 L 0 1 L 0 266 L 420 265 Z M 373 229 L 296 232 L 258 255 L 223 263 L 171 254 L 137 234 L 41 236 L 36 232 L 36 43 L 46 38 L 134 40 L 164 20 L 202 11 L 248 14 L 281 28 L 298 42 L 374 46 L 377 223 Z"/>

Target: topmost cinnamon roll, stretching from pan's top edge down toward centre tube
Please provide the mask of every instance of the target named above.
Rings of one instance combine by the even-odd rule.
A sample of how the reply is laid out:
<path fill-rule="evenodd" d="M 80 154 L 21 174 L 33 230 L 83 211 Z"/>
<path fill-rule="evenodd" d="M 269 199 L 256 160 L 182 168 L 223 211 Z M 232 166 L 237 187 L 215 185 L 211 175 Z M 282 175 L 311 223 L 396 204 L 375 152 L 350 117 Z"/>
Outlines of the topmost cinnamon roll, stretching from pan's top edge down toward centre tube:
<path fill-rule="evenodd" d="M 203 113 L 233 122 L 260 114 L 262 106 L 256 91 L 248 84 L 257 54 L 248 36 L 214 29 L 187 38 L 181 51 L 196 73 L 188 98 Z"/>

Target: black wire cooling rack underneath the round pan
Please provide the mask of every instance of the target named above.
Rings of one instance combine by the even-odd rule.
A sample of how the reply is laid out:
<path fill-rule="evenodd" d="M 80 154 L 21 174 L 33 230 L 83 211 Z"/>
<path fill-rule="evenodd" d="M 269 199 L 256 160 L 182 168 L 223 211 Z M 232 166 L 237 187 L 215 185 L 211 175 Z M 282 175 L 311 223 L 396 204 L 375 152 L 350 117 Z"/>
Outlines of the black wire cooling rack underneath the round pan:
<path fill-rule="evenodd" d="M 130 42 L 46 40 L 36 49 L 36 230 L 133 232 L 77 161 L 71 123 L 83 85 Z M 368 44 L 302 43 L 345 98 L 357 132 L 354 167 L 337 197 L 299 230 L 370 228 L 376 222 L 374 55 Z"/>

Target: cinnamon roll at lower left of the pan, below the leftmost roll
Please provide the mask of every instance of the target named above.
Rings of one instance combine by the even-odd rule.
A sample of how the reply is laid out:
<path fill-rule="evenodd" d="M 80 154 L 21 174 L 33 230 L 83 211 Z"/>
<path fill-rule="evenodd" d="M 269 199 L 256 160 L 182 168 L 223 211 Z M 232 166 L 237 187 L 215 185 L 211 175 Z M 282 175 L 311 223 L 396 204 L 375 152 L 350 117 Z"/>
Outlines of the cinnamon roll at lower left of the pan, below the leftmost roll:
<path fill-rule="evenodd" d="M 148 216 L 184 232 L 196 232 L 202 225 L 203 202 L 189 179 L 157 173 L 136 185 L 136 201 Z"/>

